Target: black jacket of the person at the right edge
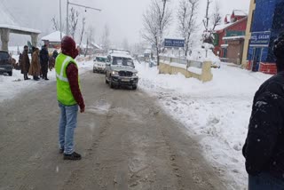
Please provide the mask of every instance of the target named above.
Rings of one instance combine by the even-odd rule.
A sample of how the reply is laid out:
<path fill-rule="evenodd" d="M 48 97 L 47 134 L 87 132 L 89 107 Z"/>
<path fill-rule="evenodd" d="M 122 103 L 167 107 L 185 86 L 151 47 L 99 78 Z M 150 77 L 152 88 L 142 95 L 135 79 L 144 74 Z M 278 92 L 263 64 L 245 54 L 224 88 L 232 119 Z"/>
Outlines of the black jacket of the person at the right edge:
<path fill-rule="evenodd" d="M 284 72 L 256 91 L 242 153 L 248 174 L 269 172 L 284 180 Z"/>

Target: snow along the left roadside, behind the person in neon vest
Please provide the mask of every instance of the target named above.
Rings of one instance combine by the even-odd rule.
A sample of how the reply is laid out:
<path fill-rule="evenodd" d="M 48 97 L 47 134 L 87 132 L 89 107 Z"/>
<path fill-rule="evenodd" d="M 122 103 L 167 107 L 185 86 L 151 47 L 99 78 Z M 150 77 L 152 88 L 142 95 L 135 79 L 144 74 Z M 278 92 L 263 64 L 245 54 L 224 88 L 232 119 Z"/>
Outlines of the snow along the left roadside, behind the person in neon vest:
<path fill-rule="evenodd" d="M 83 74 L 86 71 L 92 69 L 92 61 L 78 62 L 79 72 Z M 55 71 L 52 69 L 48 72 L 49 81 L 41 79 L 40 81 L 32 80 L 32 76 L 29 76 L 31 80 L 24 81 L 24 76 L 20 74 L 20 70 L 13 70 L 12 76 L 0 75 L 0 103 L 4 99 L 13 99 L 24 91 L 31 91 L 33 89 L 41 88 L 48 83 L 53 83 L 56 80 Z"/>

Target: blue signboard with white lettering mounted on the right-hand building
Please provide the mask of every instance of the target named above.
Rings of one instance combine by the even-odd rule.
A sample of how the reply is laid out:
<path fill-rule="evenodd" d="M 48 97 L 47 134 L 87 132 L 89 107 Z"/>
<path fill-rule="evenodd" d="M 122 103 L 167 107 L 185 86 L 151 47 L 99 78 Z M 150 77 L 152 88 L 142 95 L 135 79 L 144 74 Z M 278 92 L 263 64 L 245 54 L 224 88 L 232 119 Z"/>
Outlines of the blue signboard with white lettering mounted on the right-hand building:
<path fill-rule="evenodd" d="M 250 46 L 268 47 L 271 32 L 253 32 L 250 37 Z"/>

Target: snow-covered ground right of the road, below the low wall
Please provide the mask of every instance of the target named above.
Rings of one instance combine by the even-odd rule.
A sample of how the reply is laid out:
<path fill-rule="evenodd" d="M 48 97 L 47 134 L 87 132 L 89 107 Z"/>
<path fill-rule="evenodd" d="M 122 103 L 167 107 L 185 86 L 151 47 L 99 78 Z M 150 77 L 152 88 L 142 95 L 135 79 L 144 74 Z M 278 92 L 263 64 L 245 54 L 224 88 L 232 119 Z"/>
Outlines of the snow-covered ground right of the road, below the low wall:
<path fill-rule="evenodd" d="M 204 156 L 230 181 L 228 189 L 246 189 L 241 148 L 255 92 L 272 75 L 251 73 L 222 63 L 212 68 L 213 81 L 201 83 L 184 75 L 158 75 L 157 69 L 136 64 L 138 88 L 157 96 L 162 107 L 200 140 Z"/>

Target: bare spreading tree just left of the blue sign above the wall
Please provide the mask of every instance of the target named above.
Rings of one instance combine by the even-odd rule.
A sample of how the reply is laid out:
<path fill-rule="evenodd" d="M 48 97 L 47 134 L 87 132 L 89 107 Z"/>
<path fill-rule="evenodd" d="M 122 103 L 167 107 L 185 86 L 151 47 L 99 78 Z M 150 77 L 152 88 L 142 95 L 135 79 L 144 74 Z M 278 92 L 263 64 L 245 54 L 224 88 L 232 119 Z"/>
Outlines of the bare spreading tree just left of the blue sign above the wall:
<path fill-rule="evenodd" d="M 159 53 L 162 49 L 162 40 L 170 26 L 171 12 L 168 8 L 169 0 L 152 0 L 151 5 L 143 14 L 142 37 L 150 44 L 154 44 L 159 65 Z"/>

